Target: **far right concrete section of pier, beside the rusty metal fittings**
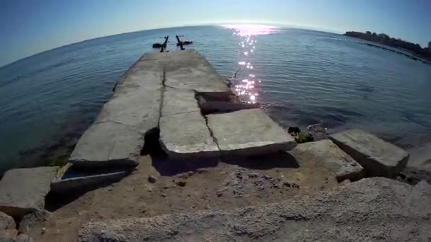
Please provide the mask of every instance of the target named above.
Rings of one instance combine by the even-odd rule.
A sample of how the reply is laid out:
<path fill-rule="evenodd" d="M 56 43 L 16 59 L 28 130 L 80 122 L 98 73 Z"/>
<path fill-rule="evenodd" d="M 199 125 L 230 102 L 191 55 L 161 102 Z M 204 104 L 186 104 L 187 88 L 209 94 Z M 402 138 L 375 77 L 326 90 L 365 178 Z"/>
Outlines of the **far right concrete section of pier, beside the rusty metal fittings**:
<path fill-rule="evenodd" d="M 205 57 L 195 50 L 170 52 L 166 62 L 166 86 L 199 93 L 218 93 L 220 96 L 232 94 L 230 82 L 217 74 Z"/>

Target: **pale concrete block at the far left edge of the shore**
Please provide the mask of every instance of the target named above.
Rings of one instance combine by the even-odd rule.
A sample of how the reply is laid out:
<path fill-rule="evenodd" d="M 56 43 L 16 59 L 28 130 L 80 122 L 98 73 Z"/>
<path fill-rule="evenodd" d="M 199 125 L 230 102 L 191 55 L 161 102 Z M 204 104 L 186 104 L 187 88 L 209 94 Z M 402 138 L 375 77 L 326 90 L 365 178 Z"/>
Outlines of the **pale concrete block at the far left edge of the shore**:
<path fill-rule="evenodd" d="M 0 180 L 0 211 L 21 218 L 45 207 L 57 167 L 21 168 L 6 171 Z"/>

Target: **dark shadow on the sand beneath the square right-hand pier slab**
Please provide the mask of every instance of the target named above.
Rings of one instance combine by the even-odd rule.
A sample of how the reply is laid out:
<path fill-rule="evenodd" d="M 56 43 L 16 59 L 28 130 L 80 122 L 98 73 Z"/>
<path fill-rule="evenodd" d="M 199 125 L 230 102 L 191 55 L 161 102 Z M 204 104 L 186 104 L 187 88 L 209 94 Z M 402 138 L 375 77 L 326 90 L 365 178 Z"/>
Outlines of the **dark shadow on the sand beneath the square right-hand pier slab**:
<path fill-rule="evenodd" d="M 223 157 L 222 161 L 254 170 L 269 170 L 272 168 L 299 168 L 298 161 L 296 161 L 295 157 L 287 152 L 249 157 Z"/>

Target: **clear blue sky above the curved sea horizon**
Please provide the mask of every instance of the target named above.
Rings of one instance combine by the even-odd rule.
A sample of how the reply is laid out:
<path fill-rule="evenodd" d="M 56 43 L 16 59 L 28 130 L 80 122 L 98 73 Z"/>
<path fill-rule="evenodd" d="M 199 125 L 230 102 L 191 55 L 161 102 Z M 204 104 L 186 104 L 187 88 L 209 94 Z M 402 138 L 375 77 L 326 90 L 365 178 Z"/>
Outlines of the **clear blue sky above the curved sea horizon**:
<path fill-rule="evenodd" d="M 431 0 L 0 0 L 0 67 L 86 39 L 208 23 L 371 30 L 424 47 Z"/>

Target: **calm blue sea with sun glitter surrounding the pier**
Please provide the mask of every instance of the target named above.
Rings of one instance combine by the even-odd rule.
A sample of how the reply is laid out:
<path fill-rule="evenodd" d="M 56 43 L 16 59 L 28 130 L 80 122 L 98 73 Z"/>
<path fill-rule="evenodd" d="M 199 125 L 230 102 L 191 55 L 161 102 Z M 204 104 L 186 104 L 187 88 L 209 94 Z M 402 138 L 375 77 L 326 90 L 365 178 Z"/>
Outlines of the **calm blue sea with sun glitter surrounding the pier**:
<path fill-rule="evenodd" d="M 187 48 L 285 127 L 358 127 L 405 148 L 430 137 L 431 66 L 332 33 L 229 27 L 114 35 L 1 68 L 0 171 L 67 157 L 65 147 L 93 122 L 116 80 L 164 35 L 171 51 L 174 35 L 194 40 Z"/>

